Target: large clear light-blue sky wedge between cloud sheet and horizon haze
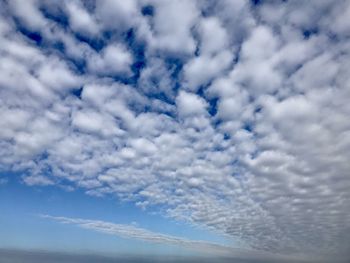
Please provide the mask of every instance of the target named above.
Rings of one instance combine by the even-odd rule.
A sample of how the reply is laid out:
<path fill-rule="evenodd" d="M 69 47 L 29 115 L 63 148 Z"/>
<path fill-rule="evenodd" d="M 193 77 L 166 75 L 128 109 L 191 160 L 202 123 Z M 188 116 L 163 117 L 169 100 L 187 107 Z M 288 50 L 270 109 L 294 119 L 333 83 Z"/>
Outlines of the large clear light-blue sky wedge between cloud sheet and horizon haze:
<path fill-rule="evenodd" d="M 27 186 L 20 182 L 21 174 L 2 173 L 9 178 L 0 186 L 0 247 L 23 249 L 47 249 L 79 252 L 94 250 L 101 253 L 188 253 L 168 245 L 149 244 L 135 239 L 110 236 L 74 225 L 60 224 L 41 218 L 40 215 L 64 216 L 101 220 L 116 224 L 134 225 L 153 232 L 204 240 L 218 244 L 230 244 L 232 240 L 184 223 L 165 218 L 153 207 L 142 210 L 131 202 L 121 202 L 114 196 L 95 197 L 81 189 L 66 191 L 57 186 Z M 79 208 L 79 209 L 77 209 Z M 131 249 L 132 248 L 132 249 Z M 159 250 L 159 251 L 158 251 Z M 175 253 L 175 254 L 176 254 Z"/>

